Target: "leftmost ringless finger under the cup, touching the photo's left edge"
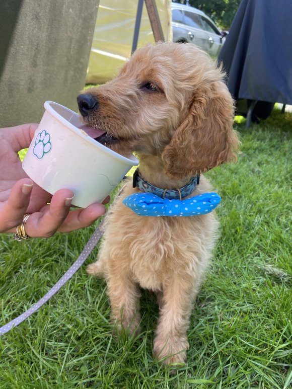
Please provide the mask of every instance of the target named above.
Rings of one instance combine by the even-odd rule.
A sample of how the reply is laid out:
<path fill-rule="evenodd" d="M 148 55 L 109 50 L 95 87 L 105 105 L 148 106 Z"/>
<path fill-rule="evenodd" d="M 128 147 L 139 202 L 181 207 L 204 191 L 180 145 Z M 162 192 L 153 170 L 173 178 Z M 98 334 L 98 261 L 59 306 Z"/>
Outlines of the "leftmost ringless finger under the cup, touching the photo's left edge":
<path fill-rule="evenodd" d="M 33 182 L 29 178 L 19 180 L 12 188 L 8 201 L 0 209 L 0 232 L 20 225 L 29 205 Z"/>

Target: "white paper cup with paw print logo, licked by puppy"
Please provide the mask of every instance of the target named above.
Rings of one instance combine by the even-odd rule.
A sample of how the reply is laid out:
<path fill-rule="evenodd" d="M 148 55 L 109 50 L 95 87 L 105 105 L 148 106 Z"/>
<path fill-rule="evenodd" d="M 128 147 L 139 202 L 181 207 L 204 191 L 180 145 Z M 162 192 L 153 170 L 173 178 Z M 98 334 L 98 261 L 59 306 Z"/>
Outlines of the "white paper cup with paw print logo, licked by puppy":
<path fill-rule="evenodd" d="M 133 154 L 123 157 L 80 130 L 84 123 L 70 109 L 52 101 L 44 107 L 22 164 L 24 171 L 51 194 L 71 189 L 72 204 L 78 207 L 102 202 L 138 160 Z"/>

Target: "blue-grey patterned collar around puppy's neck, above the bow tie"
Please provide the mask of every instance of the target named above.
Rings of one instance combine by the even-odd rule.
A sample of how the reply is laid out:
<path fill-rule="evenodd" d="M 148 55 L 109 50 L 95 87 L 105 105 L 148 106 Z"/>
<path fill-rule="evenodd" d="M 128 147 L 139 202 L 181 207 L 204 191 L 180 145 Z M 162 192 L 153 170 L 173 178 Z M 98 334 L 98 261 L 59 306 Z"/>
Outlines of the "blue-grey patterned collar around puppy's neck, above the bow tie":
<path fill-rule="evenodd" d="M 150 184 L 150 182 L 145 181 L 140 175 L 139 170 L 136 169 L 133 174 L 133 188 L 139 188 L 143 192 L 153 193 L 159 197 L 167 198 L 170 200 L 178 200 L 184 197 L 189 196 L 192 191 L 195 189 L 196 185 L 199 184 L 200 176 L 192 177 L 190 182 L 178 189 L 162 189 Z"/>

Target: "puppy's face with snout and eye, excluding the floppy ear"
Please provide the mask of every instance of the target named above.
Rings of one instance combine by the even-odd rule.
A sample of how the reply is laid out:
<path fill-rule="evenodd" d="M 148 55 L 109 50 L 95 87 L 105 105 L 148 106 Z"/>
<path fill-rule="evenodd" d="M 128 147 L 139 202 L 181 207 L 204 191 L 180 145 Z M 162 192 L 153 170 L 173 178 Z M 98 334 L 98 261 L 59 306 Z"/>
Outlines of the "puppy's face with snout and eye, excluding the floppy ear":
<path fill-rule="evenodd" d="M 84 121 L 105 131 L 98 140 L 118 152 L 162 152 L 191 97 L 180 88 L 178 71 L 175 53 L 163 45 L 138 50 L 115 80 L 78 98 Z"/>

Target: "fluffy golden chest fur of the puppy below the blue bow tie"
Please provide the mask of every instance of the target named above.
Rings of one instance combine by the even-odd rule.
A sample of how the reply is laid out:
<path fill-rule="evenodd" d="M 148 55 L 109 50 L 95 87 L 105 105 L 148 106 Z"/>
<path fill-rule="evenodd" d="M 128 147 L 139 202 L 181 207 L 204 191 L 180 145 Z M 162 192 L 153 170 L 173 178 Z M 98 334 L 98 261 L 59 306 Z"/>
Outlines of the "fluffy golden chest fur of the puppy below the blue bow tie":
<path fill-rule="evenodd" d="M 123 253 L 123 265 L 128 268 L 131 278 L 142 288 L 159 290 L 162 284 L 178 268 L 188 268 L 191 258 L 186 251 L 186 240 L 191 233 L 189 223 L 178 218 L 137 216 L 125 209 L 123 216 L 113 213 L 110 237 L 115 236 L 115 243 L 109 242 Z M 187 225 L 186 225 L 187 224 Z M 187 229 L 187 234 L 183 234 Z M 182 232 L 183 238 L 180 236 Z M 121 257 L 120 257 L 121 259 Z"/>

